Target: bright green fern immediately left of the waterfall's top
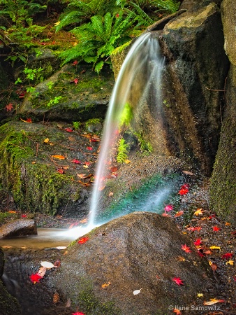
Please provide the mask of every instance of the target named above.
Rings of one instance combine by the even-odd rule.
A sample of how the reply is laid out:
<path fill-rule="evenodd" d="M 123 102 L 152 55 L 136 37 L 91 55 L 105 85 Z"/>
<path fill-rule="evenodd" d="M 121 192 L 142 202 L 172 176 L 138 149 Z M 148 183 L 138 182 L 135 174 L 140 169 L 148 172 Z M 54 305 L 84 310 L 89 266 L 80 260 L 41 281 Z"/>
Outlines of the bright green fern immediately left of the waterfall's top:
<path fill-rule="evenodd" d="M 73 34 L 78 45 L 61 53 L 64 64 L 73 59 L 92 62 L 97 72 L 101 71 L 112 50 L 130 39 L 128 36 L 133 25 L 133 13 L 126 16 L 106 13 L 104 17 L 94 15 L 91 22 L 75 27 Z"/>

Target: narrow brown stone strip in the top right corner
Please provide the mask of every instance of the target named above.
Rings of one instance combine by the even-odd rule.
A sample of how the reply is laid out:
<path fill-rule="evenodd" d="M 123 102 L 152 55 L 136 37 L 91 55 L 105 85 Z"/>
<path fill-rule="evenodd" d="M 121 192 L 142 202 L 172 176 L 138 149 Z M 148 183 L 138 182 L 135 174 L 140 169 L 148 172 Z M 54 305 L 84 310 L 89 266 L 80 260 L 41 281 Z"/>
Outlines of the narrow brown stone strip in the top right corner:
<path fill-rule="evenodd" d="M 228 55 L 230 62 L 236 66 L 236 15 L 234 0 L 223 0 L 221 4 L 221 18 L 225 36 L 224 48 L 226 55 Z"/>

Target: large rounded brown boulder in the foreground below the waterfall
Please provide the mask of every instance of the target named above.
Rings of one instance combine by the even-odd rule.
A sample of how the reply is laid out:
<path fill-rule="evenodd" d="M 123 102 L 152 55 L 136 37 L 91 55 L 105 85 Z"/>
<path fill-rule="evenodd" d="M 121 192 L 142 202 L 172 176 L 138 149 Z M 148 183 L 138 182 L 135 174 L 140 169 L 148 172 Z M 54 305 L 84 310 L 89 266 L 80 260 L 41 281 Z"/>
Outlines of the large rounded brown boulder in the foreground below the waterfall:
<path fill-rule="evenodd" d="M 172 314 L 170 305 L 190 307 L 198 292 L 204 298 L 215 294 L 205 258 L 170 218 L 135 212 L 87 237 L 67 248 L 60 274 L 49 279 L 50 286 L 85 314 L 103 314 L 104 309 L 110 311 L 106 314 Z M 184 244 L 190 253 L 182 250 Z M 178 286 L 176 278 L 184 285 Z M 140 293 L 133 294 L 135 290 Z"/>

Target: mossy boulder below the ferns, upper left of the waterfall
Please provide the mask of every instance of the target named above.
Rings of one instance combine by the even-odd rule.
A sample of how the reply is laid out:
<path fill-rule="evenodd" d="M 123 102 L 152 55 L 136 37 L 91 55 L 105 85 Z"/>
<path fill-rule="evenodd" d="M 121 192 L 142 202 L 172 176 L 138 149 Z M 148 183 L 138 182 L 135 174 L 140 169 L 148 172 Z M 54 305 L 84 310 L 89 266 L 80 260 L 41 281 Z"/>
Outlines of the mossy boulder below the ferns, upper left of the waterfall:
<path fill-rule="evenodd" d="M 113 85 L 110 69 L 98 76 L 87 64 L 66 65 L 27 94 L 20 114 L 69 122 L 104 118 Z"/>

